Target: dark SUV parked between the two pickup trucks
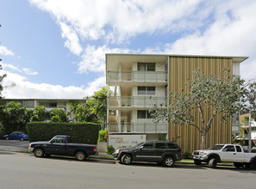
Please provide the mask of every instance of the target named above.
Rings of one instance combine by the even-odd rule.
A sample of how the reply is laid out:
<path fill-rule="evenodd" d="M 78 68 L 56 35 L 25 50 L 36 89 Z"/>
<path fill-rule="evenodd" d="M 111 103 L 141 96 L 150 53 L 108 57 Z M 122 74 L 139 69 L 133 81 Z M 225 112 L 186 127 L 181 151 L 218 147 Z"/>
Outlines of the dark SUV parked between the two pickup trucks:
<path fill-rule="evenodd" d="M 182 159 L 182 150 L 178 144 L 167 141 L 152 141 L 139 143 L 133 148 L 116 149 L 115 160 L 123 164 L 137 162 L 158 162 L 166 167 L 172 167 L 174 162 Z"/>

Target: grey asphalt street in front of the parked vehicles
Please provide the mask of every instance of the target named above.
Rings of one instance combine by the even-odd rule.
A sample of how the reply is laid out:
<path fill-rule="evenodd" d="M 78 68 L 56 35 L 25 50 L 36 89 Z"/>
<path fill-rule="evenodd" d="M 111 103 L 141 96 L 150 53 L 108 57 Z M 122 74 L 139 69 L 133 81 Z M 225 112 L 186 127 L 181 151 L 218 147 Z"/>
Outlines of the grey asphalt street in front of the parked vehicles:
<path fill-rule="evenodd" d="M 36 158 L 28 153 L 0 151 L 1 188 L 255 188 L 256 171 L 211 169 L 153 163 L 125 166 L 116 162 L 73 158 Z"/>

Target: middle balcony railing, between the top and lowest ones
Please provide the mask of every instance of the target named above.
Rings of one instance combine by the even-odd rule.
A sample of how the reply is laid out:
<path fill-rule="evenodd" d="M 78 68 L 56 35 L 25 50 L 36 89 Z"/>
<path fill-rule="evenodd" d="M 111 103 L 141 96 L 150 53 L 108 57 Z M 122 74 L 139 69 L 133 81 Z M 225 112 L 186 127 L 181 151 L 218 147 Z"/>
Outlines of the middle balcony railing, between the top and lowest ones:
<path fill-rule="evenodd" d="M 109 96 L 108 107 L 153 107 L 167 106 L 165 97 L 152 96 Z"/>

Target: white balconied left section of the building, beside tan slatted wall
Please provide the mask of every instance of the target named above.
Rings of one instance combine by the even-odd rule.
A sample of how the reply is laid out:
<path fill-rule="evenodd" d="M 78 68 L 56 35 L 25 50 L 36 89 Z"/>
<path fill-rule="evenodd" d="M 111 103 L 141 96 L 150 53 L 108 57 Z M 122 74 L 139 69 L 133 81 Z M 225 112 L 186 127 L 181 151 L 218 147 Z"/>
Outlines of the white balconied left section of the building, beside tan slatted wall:
<path fill-rule="evenodd" d="M 131 145 L 133 139 L 123 141 L 122 134 L 132 134 L 134 143 L 167 135 L 168 123 L 153 123 L 148 113 L 155 104 L 167 105 L 167 61 L 167 56 L 106 55 L 107 84 L 113 86 L 108 97 L 109 143 Z"/>

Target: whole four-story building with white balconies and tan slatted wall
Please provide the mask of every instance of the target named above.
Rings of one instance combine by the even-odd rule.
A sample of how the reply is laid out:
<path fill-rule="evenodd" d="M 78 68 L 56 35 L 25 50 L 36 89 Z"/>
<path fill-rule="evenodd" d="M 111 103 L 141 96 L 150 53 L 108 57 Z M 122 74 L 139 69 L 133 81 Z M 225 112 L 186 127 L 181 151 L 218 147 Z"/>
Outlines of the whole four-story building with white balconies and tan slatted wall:
<path fill-rule="evenodd" d="M 199 132 L 192 126 L 173 126 L 172 123 L 153 123 L 148 110 L 154 104 L 167 107 L 169 92 L 184 88 L 187 78 L 200 68 L 203 73 L 240 76 L 240 63 L 246 57 L 106 54 L 106 81 L 113 86 L 108 97 L 109 143 L 115 147 L 129 146 L 140 141 L 157 140 L 159 133 L 168 139 L 179 136 L 178 144 L 185 151 L 198 149 Z M 210 110 L 209 110 L 210 111 Z M 207 114 L 208 112 L 204 112 Z M 233 123 L 232 123 L 233 122 Z M 199 126 L 201 122 L 197 120 Z M 230 143 L 231 133 L 239 132 L 239 117 L 228 124 L 216 117 L 206 139 L 206 146 Z"/>

